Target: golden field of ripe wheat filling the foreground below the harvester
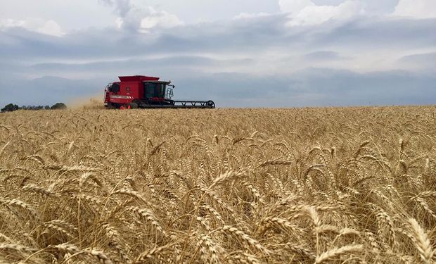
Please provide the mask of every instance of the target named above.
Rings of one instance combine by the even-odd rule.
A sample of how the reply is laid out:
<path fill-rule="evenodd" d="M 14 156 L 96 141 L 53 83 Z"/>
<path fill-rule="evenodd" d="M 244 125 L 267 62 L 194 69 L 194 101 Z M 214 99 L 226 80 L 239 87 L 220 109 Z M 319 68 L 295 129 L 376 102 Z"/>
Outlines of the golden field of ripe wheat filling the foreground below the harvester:
<path fill-rule="evenodd" d="M 433 263 L 436 107 L 0 114 L 0 263 Z"/>

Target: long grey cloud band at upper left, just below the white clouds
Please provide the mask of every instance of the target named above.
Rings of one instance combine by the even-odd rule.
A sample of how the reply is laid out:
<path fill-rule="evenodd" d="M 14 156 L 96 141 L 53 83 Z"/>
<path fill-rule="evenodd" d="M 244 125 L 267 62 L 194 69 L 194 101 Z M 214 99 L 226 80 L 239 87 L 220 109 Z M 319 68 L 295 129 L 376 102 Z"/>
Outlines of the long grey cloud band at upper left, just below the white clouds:
<path fill-rule="evenodd" d="M 0 32 L 13 44 L 0 55 L 9 58 L 122 58 L 170 53 L 258 51 L 259 48 L 288 44 L 282 15 L 252 22 L 232 21 L 174 27 L 155 34 L 141 34 L 111 28 L 86 30 L 63 38 L 48 37 L 23 29 Z M 296 38 L 296 36 L 295 36 Z M 291 43 L 291 42 L 289 42 Z"/>

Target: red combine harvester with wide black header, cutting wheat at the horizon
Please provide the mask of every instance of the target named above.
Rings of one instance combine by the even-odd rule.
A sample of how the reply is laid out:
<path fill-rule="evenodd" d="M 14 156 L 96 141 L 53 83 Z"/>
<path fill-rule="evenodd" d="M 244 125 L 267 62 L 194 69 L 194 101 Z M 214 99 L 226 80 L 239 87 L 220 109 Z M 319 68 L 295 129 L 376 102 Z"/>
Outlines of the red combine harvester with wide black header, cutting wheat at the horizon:
<path fill-rule="evenodd" d="M 105 88 L 107 108 L 215 108 L 213 101 L 174 101 L 171 81 L 158 77 L 120 76 Z"/>

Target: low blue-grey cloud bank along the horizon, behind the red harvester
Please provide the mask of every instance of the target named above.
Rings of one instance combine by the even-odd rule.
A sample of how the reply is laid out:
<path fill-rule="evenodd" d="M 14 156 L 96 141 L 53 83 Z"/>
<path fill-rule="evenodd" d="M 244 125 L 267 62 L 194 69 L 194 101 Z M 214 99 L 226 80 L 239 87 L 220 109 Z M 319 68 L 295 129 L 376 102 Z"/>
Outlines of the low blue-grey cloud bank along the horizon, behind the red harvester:
<path fill-rule="evenodd" d="M 68 80 L 43 77 L 1 83 L 0 104 L 46 104 L 101 94 L 112 79 Z M 242 73 L 185 76 L 174 80 L 176 99 L 212 99 L 220 107 L 351 106 L 434 104 L 436 77 L 406 71 L 359 74 L 308 68 L 292 76 Z M 26 96 L 23 96 L 26 94 Z M 50 94 L 49 97 L 47 95 Z"/>

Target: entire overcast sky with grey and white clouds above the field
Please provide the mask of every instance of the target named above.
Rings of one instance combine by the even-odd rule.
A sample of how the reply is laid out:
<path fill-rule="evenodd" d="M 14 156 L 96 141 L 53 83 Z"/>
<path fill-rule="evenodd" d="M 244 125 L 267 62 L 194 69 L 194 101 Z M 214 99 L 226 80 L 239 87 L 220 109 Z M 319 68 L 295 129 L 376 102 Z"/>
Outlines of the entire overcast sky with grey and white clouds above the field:
<path fill-rule="evenodd" d="M 217 106 L 436 103 L 436 0 L 1 0 L 0 106 L 119 75 Z"/>

